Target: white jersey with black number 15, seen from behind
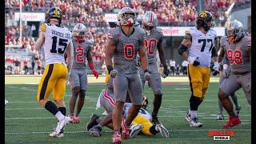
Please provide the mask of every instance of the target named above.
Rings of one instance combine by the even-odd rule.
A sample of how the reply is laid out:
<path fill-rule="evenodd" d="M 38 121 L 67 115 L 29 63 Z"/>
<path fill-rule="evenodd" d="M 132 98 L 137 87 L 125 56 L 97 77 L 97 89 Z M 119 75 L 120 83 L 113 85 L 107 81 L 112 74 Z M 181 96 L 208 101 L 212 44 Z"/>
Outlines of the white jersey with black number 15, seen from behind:
<path fill-rule="evenodd" d="M 72 42 L 72 34 L 66 27 L 58 27 L 50 23 L 44 23 L 40 30 L 45 32 L 43 43 L 46 64 L 63 63 L 66 66 L 64 51 Z"/>

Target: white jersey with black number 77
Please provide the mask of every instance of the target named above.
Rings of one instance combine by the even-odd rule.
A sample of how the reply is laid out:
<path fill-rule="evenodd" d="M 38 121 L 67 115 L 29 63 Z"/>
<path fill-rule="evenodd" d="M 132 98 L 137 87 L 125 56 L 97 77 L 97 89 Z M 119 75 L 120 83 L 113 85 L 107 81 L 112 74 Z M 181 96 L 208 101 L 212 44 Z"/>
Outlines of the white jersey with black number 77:
<path fill-rule="evenodd" d="M 216 32 L 210 29 L 207 34 L 203 34 L 202 31 L 196 28 L 190 28 L 190 30 L 186 30 L 186 34 L 191 34 L 192 36 L 189 56 L 198 58 L 199 66 L 210 67 L 211 50 L 214 47 Z"/>

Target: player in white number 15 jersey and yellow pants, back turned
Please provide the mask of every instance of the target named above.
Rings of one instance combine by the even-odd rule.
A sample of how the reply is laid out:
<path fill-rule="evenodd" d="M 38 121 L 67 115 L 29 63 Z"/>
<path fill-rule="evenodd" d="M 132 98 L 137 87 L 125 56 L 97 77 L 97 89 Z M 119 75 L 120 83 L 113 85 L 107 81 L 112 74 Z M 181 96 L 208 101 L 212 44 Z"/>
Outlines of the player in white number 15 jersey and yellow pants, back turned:
<path fill-rule="evenodd" d="M 70 70 L 66 67 L 64 52 L 70 63 L 73 63 L 73 45 L 71 32 L 66 27 L 61 27 L 62 10 L 58 7 L 50 8 L 46 13 L 46 23 L 40 26 L 39 38 L 35 44 L 36 50 L 44 48 L 46 69 L 38 84 L 37 99 L 41 106 L 58 118 L 58 126 L 51 137 L 63 137 L 64 127 L 69 123 L 66 117 L 64 93 L 66 90 L 66 77 Z M 54 91 L 53 100 L 49 100 L 50 93 Z"/>

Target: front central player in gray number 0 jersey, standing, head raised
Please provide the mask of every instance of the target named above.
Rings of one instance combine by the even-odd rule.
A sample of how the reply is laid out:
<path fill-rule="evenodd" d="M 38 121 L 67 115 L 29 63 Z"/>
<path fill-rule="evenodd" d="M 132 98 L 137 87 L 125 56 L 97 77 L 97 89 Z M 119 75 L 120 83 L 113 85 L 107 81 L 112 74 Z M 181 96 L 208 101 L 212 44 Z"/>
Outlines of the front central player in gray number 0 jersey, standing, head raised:
<path fill-rule="evenodd" d="M 111 78 L 114 78 L 114 96 L 116 99 L 112 114 L 114 124 L 112 140 L 114 143 L 122 142 L 119 132 L 121 122 L 124 138 L 130 137 L 130 123 L 138 114 L 142 103 L 142 82 L 137 70 L 137 54 L 140 55 L 146 80 L 150 79 L 144 46 L 145 31 L 134 26 L 134 23 L 134 10 L 130 7 L 123 7 L 118 12 L 118 27 L 111 29 L 107 34 L 109 41 L 106 46 L 106 66 Z M 112 57 L 114 57 L 114 68 Z M 122 108 L 126 102 L 127 91 L 134 105 L 130 108 L 126 120 L 122 121 Z"/>

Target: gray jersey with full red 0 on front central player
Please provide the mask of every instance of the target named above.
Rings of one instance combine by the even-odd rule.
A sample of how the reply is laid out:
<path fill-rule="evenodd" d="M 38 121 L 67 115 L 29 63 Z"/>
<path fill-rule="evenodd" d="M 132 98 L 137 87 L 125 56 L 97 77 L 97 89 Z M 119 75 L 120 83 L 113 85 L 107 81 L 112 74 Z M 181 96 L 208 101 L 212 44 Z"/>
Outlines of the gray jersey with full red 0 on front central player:
<path fill-rule="evenodd" d="M 140 44 L 145 40 L 145 31 L 136 26 L 133 34 L 127 37 L 121 27 L 118 26 L 109 30 L 108 38 L 111 38 L 116 43 L 114 69 L 122 74 L 130 74 L 137 71 L 136 55 Z"/>

